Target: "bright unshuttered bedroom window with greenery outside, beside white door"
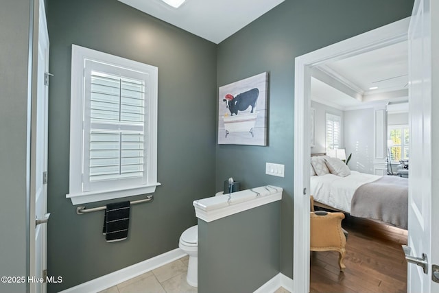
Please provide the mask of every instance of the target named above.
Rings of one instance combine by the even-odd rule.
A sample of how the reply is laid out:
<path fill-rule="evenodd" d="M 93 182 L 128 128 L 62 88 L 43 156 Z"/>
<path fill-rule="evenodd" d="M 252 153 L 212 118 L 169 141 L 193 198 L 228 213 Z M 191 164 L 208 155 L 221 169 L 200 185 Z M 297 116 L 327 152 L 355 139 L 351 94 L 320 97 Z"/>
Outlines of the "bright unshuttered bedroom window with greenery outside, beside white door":
<path fill-rule="evenodd" d="M 393 162 L 409 159 L 410 133 L 408 125 L 398 125 L 388 127 L 388 136 L 393 141 L 390 147 L 390 158 Z"/>

